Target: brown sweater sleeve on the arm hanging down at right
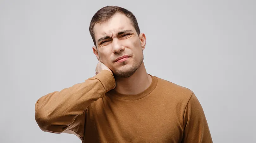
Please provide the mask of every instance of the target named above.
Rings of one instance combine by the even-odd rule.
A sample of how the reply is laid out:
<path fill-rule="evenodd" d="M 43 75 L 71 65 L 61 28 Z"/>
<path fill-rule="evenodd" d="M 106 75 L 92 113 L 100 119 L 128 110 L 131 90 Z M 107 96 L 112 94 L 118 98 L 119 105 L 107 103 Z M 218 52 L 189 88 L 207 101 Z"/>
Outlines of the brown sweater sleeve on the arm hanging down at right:
<path fill-rule="evenodd" d="M 203 108 L 192 93 L 184 112 L 182 143 L 212 143 L 211 134 Z"/>

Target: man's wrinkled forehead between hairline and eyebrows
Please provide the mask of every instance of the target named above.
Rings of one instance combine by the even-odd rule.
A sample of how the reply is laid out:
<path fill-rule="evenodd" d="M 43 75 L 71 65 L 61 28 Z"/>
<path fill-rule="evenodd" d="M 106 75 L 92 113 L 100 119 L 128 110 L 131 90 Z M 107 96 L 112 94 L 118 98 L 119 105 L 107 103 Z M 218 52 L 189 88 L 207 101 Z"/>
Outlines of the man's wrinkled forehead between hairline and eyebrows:
<path fill-rule="evenodd" d="M 122 30 L 135 30 L 131 20 L 124 14 L 115 14 L 111 19 L 103 23 L 95 24 L 93 31 L 95 39 L 102 36 L 112 36 Z"/>

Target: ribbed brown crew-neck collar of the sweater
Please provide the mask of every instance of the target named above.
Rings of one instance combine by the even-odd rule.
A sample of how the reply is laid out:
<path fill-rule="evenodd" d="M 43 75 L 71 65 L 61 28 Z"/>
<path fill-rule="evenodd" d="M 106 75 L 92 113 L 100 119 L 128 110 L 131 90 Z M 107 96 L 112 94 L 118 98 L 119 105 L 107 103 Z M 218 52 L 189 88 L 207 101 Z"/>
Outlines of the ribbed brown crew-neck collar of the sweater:
<path fill-rule="evenodd" d="M 156 76 L 152 76 L 151 74 L 149 74 L 152 77 L 152 82 L 150 84 L 150 86 L 145 90 L 142 91 L 139 94 L 136 95 L 129 95 L 129 94 L 121 94 L 119 92 L 116 92 L 115 90 L 110 90 L 108 92 L 108 96 L 109 98 L 119 98 L 119 99 L 124 99 L 124 100 L 139 100 L 147 95 L 149 95 L 155 88 L 157 85 L 157 77 Z"/>

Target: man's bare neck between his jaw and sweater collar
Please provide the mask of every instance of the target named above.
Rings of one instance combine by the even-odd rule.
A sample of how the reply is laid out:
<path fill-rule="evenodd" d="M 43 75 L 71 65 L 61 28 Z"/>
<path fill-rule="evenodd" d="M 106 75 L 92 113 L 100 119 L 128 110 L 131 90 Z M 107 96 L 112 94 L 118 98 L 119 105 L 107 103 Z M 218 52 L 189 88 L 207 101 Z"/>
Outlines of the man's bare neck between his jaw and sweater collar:
<path fill-rule="evenodd" d="M 140 68 L 128 78 L 115 77 L 116 92 L 121 94 L 136 95 L 146 90 L 151 82 L 152 78 L 147 74 L 144 63 L 141 64 Z"/>

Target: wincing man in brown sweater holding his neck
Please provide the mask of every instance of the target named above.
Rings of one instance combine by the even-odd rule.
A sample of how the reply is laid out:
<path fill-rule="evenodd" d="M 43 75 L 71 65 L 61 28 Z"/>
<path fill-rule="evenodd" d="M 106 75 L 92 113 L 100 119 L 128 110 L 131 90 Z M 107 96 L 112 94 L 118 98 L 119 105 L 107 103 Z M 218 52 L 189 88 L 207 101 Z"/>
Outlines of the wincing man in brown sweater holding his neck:
<path fill-rule="evenodd" d="M 146 36 L 128 10 L 107 6 L 92 17 L 96 75 L 42 96 L 40 129 L 82 142 L 211 143 L 203 108 L 182 86 L 147 74 Z"/>

